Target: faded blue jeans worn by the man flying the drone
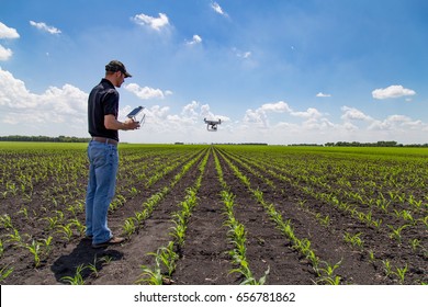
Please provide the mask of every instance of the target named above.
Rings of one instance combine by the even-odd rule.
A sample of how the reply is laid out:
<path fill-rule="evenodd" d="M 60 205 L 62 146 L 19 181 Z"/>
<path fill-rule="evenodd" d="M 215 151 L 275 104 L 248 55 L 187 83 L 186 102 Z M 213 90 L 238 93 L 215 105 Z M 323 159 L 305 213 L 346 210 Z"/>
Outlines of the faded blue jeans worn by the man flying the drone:
<path fill-rule="evenodd" d="M 86 200 L 87 236 L 98 245 L 113 237 L 108 227 L 108 212 L 116 187 L 117 147 L 91 140 L 88 146 L 89 182 Z"/>

